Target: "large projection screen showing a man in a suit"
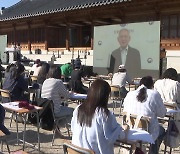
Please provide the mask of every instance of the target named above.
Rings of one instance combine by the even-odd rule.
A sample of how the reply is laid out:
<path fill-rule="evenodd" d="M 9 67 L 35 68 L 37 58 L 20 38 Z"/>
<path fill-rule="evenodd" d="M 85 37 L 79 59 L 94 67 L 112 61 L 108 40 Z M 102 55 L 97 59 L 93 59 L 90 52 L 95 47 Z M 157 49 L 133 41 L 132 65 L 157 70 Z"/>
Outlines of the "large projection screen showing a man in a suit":
<path fill-rule="evenodd" d="M 120 33 L 128 31 L 128 40 L 121 40 Z M 123 39 L 123 35 L 121 38 Z M 126 60 L 122 62 L 124 49 Z M 114 54 L 116 52 L 116 54 Z M 115 73 L 124 64 L 131 77 L 159 76 L 160 21 L 97 26 L 94 28 L 93 71 Z M 114 60 L 112 60 L 112 57 Z M 112 64 L 112 61 L 113 64 Z"/>

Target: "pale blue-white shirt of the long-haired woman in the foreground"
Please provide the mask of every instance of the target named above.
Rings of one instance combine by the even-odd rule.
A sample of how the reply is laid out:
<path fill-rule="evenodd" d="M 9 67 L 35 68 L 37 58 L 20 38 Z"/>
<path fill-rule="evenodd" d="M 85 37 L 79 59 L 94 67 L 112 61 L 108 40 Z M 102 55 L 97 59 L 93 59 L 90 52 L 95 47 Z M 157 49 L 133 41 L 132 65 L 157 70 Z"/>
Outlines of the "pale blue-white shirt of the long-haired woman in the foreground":
<path fill-rule="evenodd" d="M 102 109 L 96 109 L 91 127 L 81 127 L 77 122 L 78 108 L 79 106 L 74 110 L 71 121 L 72 143 L 91 149 L 96 154 L 113 154 L 114 142 L 119 135 L 120 138 L 125 136 L 113 113 L 109 111 L 107 118 Z"/>

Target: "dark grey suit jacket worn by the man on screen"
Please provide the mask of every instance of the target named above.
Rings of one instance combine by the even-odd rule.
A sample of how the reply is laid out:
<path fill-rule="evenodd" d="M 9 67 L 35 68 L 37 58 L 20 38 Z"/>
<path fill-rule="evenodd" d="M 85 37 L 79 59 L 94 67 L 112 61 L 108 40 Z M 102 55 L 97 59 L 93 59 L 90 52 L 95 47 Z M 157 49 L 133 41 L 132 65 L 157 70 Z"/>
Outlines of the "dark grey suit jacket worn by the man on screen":
<path fill-rule="evenodd" d="M 122 64 L 120 48 L 114 50 L 111 54 L 109 72 L 115 73 L 118 71 L 119 65 Z M 141 70 L 141 58 L 137 49 L 128 47 L 125 68 L 131 78 L 138 77 Z"/>

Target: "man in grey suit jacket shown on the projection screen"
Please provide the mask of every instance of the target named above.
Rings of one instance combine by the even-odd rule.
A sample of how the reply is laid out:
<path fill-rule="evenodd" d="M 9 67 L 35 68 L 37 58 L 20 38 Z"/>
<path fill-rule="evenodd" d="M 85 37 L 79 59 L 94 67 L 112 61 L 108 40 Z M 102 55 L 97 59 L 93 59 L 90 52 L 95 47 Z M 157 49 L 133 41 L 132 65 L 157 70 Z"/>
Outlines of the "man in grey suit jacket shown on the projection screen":
<path fill-rule="evenodd" d="M 109 72 L 115 73 L 119 65 L 124 65 L 131 78 L 138 77 L 141 70 L 141 58 L 137 49 L 129 46 L 129 30 L 121 29 L 117 38 L 120 47 L 111 54 Z"/>

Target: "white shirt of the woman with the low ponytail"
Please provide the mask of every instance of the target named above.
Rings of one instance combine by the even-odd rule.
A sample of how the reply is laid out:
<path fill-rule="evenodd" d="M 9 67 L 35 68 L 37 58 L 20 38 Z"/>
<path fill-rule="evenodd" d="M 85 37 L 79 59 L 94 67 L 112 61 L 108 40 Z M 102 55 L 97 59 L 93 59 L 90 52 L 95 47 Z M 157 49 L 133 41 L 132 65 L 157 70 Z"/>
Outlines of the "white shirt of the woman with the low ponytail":
<path fill-rule="evenodd" d="M 139 90 L 143 87 L 141 85 L 135 91 L 130 91 L 124 99 L 124 112 L 148 116 L 151 118 L 149 123 L 149 133 L 152 135 L 154 141 L 159 135 L 159 123 L 157 117 L 164 117 L 166 108 L 163 104 L 160 94 L 152 89 L 147 89 L 147 99 L 144 102 L 137 100 Z"/>

